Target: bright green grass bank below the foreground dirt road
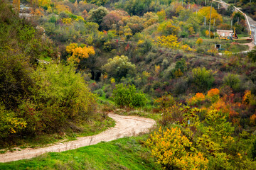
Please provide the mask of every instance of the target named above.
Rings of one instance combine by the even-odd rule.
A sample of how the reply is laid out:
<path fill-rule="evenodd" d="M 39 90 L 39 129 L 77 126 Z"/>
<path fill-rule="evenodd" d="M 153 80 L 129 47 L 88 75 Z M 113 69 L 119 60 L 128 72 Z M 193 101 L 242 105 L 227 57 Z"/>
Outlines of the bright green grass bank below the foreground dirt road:
<path fill-rule="evenodd" d="M 0 169 L 161 169 L 149 149 L 141 145 L 147 137 L 124 137 L 34 159 L 0 163 Z"/>

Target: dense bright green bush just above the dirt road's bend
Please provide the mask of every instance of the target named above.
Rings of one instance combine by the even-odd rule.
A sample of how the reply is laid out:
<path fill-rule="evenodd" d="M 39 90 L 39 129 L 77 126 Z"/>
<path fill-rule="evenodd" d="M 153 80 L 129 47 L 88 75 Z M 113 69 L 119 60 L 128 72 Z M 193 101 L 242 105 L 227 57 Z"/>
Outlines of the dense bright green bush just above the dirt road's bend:
<path fill-rule="evenodd" d="M 120 107 L 137 108 L 145 106 L 146 96 L 142 93 L 137 93 L 134 85 L 117 84 L 112 93 L 112 101 Z"/>

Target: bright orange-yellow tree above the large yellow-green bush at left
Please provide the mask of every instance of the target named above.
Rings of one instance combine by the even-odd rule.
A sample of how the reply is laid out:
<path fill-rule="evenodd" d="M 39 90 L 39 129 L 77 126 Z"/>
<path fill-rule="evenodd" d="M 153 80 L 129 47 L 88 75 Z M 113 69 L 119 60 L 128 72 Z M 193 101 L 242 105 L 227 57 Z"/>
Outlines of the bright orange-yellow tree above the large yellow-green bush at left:
<path fill-rule="evenodd" d="M 71 43 L 66 47 L 66 51 L 70 54 L 68 60 L 71 62 L 80 62 L 81 59 L 88 58 L 90 55 L 95 55 L 95 50 L 92 46 L 81 45 L 77 43 Z"/>

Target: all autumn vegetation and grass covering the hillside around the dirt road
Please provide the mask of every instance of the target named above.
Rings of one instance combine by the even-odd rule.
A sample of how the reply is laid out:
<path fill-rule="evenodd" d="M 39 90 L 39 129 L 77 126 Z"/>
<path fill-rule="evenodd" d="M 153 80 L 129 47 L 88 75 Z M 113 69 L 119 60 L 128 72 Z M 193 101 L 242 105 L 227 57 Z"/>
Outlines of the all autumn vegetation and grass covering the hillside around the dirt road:
<path fill-rule="evenodd" d="M 146 115 L 158 125 L 143 139 L 0 166 L 255 169 L 256 50 L 239 53 L 248 46 L 216 33 L 235 27 L 238 38 L 248 37 L 244 16 L 232 6 L 213 3 L 210 16 L 208 1 L 23 0 L 33 6 L 33 18 L 26 21 L 3 2 L 4 144 L 27 135 L 80 132 L 90 120 L 108 121 L 107 112 Z M 236 5 L 249 13 L 253 3 Z M 46 38 L 36 26 L 46 30 Z"/>

